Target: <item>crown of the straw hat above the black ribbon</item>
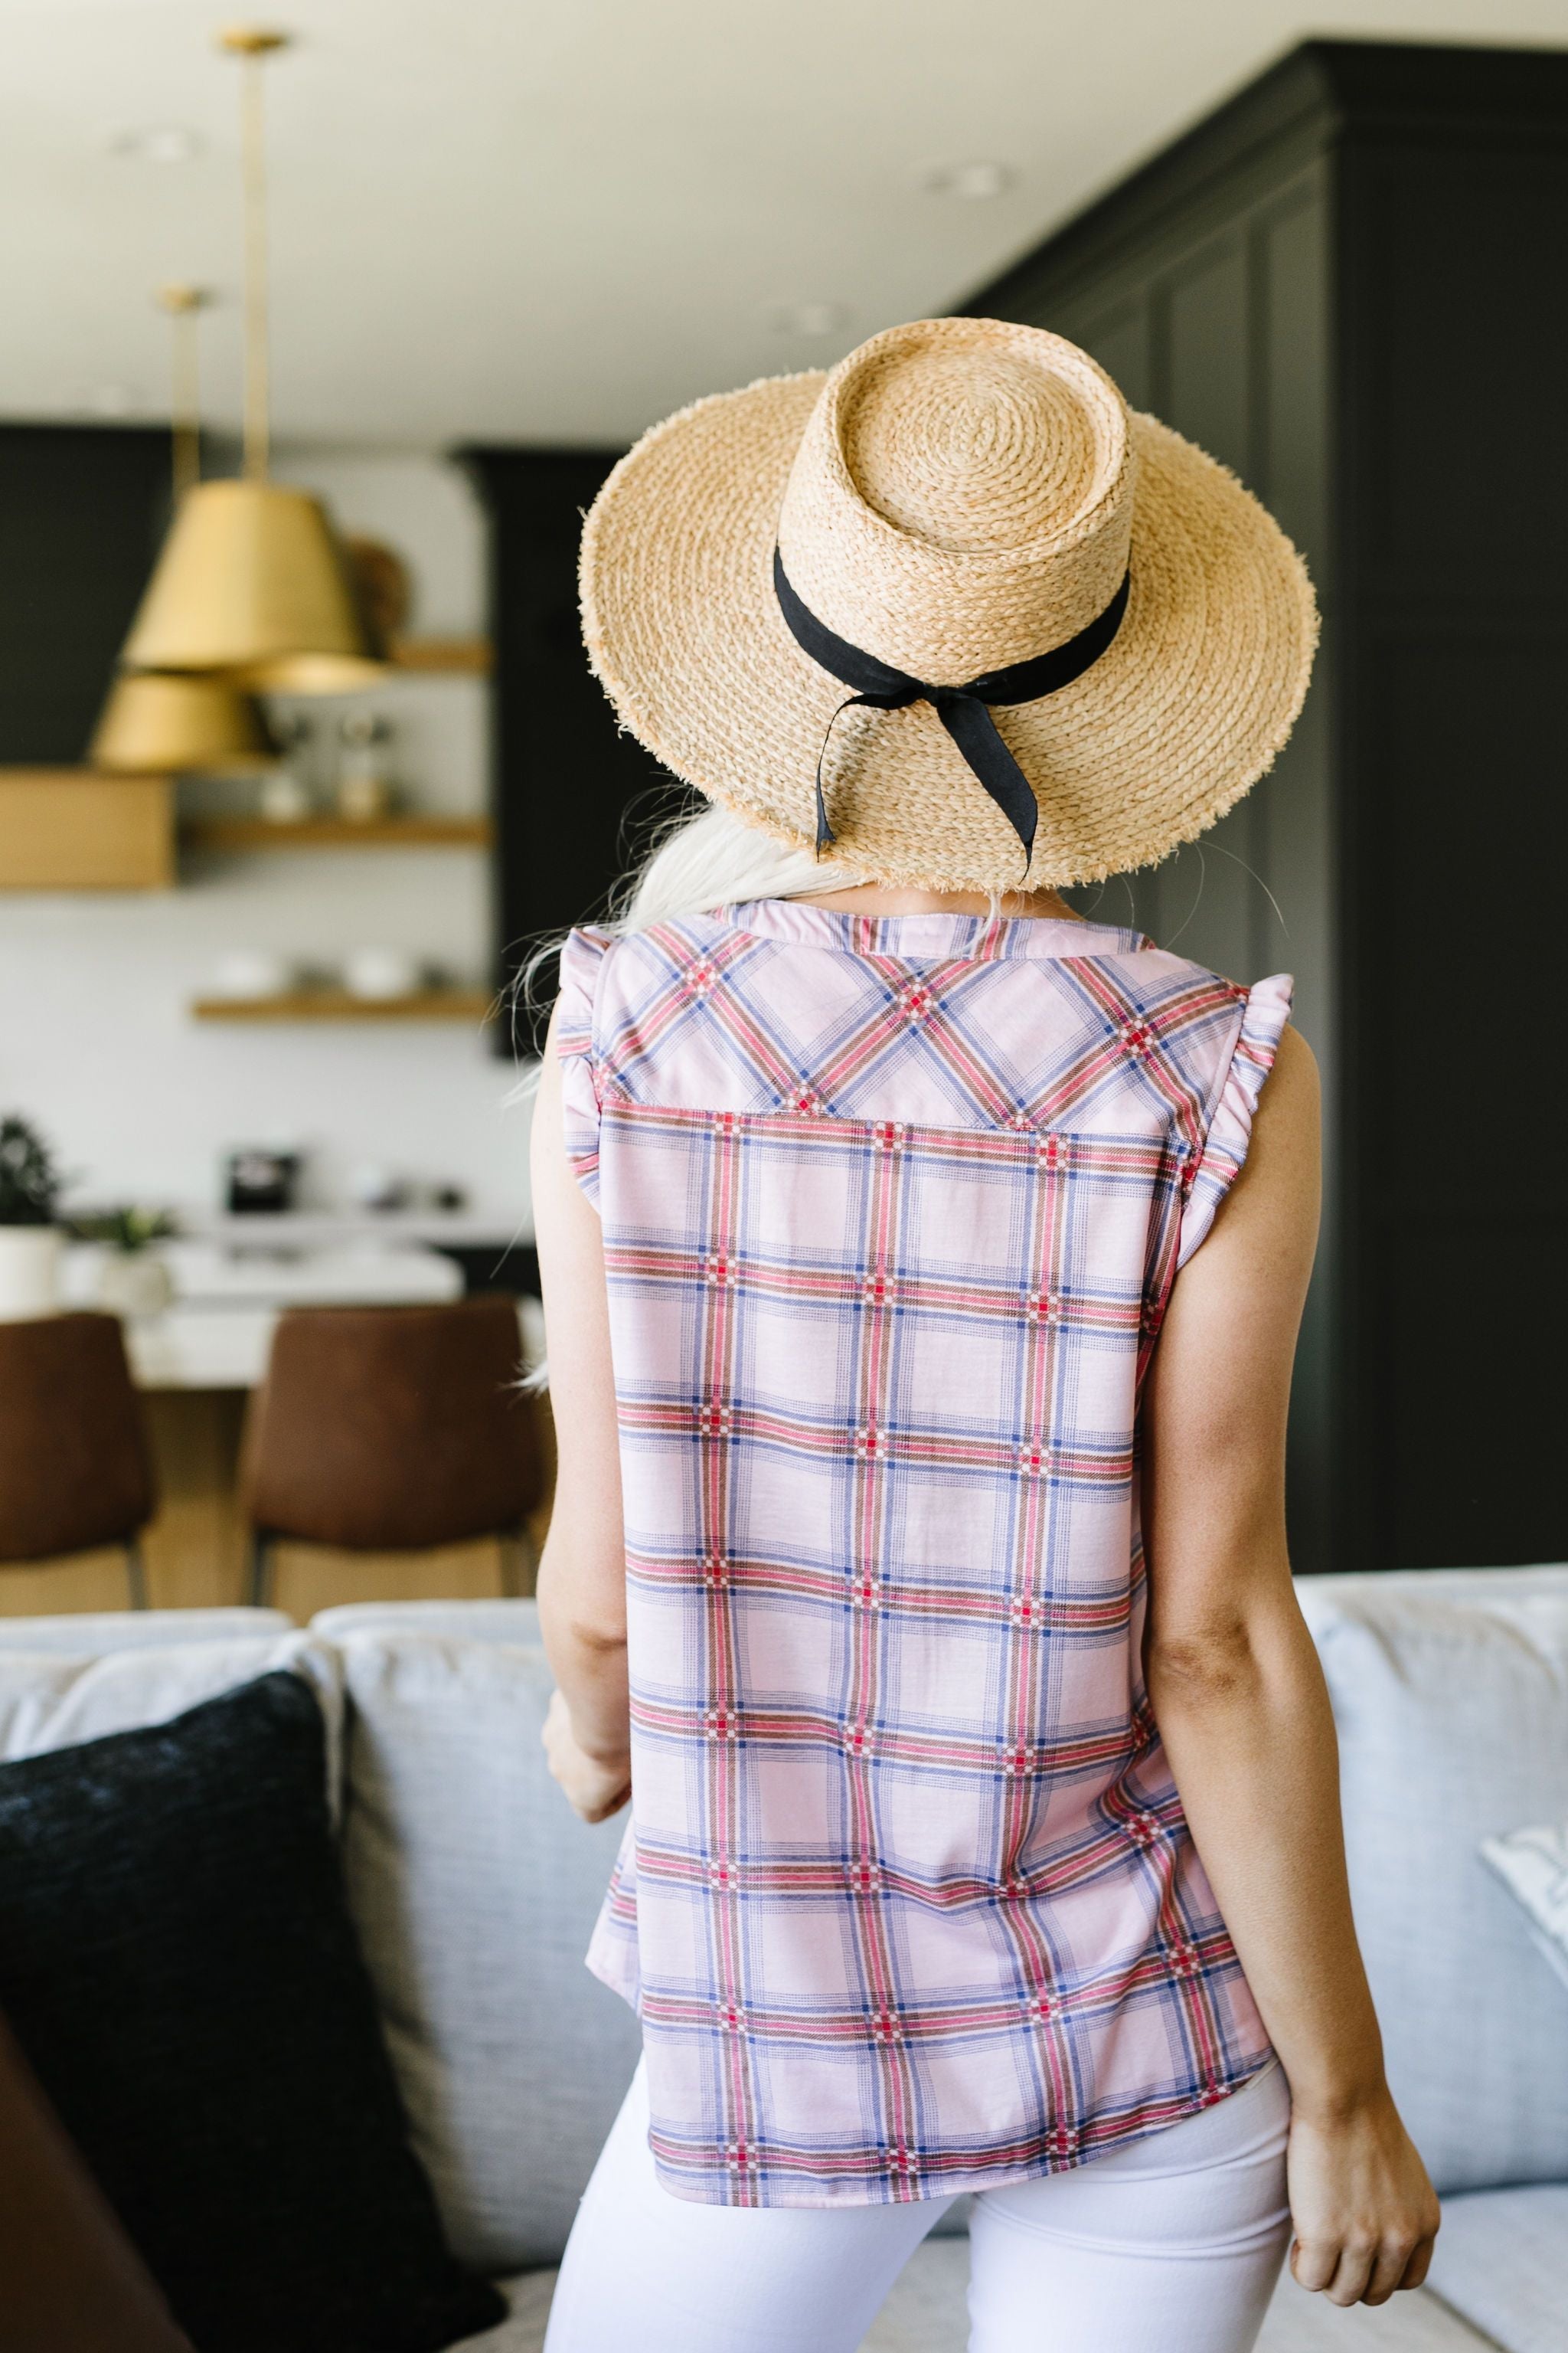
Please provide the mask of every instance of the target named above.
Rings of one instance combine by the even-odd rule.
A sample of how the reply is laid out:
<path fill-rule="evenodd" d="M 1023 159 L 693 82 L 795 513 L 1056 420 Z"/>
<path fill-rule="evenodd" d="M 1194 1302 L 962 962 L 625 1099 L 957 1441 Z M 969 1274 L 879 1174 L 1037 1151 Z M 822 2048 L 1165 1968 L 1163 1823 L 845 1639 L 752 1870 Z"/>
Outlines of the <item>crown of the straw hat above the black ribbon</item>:
<path fill-rule="evenodd" d="M 778 522 L 795 591 L 933 685 L 1027 661 L 1110 605 L 1133 454 L 1121 393 L 1063 336 L 919 320 L 825 379 Z"/>

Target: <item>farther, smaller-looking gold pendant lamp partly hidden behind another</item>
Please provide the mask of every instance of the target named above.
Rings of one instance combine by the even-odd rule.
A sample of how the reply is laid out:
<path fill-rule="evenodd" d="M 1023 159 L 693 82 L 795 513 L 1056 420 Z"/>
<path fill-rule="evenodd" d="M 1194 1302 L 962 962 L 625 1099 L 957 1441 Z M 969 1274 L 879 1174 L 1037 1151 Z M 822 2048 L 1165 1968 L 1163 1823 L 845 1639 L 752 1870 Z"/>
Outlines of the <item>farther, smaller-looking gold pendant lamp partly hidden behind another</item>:
<path fill-rule="evenodd" d="M 197 487 L 202 471 L 202 395 L 197 318 L 202 287 L 160 287 L 158 304 L 174 329 L 172 475 L 174 508 Z M 195 671 L 122 671 L 110 687 L 87 758 L 129 776 L 174 776 L 181 769 L 263 767 L 277 753 L 249 694 L 233 680 Z"/>

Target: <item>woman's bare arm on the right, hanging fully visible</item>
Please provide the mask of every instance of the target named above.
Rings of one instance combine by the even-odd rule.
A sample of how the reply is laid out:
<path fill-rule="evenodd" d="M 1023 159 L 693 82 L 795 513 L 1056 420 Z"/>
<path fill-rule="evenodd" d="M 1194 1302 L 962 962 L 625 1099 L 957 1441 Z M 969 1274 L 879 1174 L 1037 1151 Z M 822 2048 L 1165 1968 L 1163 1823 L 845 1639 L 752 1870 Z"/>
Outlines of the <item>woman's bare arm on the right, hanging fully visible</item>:
<path fill-rule="evenodd" d="M 1147 1680 L 1291 2082 L 1295 2278 L 1335 2304 L 1382 2304 L 1425 2278 L 1439 2209 L 1382 2075 L 1333 1715 L 1286 1553 L 1286 1402 L 1316 1217 L 1316 1064 L 1286 1031 L 1241 1176 L 1175 1278 L 1150 1367 Z"/>

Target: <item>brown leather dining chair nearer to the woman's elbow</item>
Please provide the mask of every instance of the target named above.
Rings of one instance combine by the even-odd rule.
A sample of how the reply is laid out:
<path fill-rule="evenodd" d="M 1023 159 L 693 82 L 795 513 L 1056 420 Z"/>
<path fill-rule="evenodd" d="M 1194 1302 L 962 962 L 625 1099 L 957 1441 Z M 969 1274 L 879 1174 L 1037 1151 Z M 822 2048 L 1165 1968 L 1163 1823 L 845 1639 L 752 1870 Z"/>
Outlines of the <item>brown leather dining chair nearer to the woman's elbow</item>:
<path fill-rule="evenodd" d="M 520 1355 L 517 1304 L 498 1294 L 287 1308 L 240 1449 L 252 1600 L 280 1537 L 350 1553 L 496 1537 L 503 1588 L 522 1591 L 543 1461 Z"/>

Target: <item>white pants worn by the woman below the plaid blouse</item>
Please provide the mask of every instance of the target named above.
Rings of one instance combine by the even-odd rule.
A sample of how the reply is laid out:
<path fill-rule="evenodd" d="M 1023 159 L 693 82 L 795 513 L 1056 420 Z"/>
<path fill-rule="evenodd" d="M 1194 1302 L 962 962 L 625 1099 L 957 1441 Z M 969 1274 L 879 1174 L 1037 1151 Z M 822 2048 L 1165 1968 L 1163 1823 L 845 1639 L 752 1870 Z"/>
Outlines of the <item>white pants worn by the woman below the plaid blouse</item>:
<path fill-rule="evenodd" d="M 1067 2174 L 983 2191 L 969 2353 L 1251 2353 L 1291 2240 L 1279 2066 Z M 856 2353 L 952 2205 L 715 2207 L 661 2188 L 637 2068 L 562 2261 L 545 2353 Z"/>

